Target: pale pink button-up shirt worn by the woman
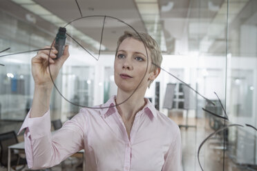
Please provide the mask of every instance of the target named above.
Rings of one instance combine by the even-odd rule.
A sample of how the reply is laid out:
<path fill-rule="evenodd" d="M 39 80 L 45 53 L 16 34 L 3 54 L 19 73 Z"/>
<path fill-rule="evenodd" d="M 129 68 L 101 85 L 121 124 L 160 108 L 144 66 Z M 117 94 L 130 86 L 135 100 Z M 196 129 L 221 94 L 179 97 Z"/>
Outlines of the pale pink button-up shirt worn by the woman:
<path fill-rule="evenodd" d="M 115 97 L 97 107 L 113 105 Z M 86 170 L 178 171 L 181 167 L 178 125 L 155 110 L 148 99 L 135 115 L 130 139 L 115 107 L 82 108 L 54 134 L 49 110 L 37 118 L 30 118 L 29 112 L 24 128 L 26 159 L 32 169 L 52 167 L 82 149 Z"/>

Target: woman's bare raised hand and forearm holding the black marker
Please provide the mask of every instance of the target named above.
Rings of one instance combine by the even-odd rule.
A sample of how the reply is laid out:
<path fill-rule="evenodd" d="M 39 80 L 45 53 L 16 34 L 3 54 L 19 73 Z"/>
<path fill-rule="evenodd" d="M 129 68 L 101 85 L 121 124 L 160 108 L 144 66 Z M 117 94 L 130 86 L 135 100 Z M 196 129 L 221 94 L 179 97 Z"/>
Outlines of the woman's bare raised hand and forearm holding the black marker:
<path fill-rule="evenodd" d="M 46 46 L 45 48 L 50 48 L 50 46 Z M 50 79 L 49 67 L 51 75 L 55 80 L 61 66 L 69 56 L 68 46 L 65 47 L 64 54 L 59 59 L 55 59 L 57 54 L 55 47 L 52 47 L 52 49 L 53 50 L 50 50 L 50 52 L 49 50 L 40 50 L 31 60 L 32 76 L 35 81 L 34 97 L 30 109 L 31 118 L 41 117 L 48 111 L 50 105 L 50 95 L 53 89 L 53 82 Z M 50 57 L 49 66 L 48 56 Z"/>

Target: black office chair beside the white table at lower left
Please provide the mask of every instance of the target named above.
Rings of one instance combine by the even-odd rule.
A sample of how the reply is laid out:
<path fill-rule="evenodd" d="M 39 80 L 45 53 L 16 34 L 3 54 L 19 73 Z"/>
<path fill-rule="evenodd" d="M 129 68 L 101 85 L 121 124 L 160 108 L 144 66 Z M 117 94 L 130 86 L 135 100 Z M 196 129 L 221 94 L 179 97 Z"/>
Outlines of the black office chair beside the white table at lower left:
<path fill-rule="evenodd" d="M 6 168 L 8 166 L 8 146 L 15 143 L 18 143 L 15 131 L 0 134 L 0 163 Z M 11 151 L 10 165 L 13 170 L 22 170 L 27 165 L 27 161 L 21 158 L 19 154 L 15 154 L 15 152 Z M 22 167 L 17 168 L 19 165 Z"/>

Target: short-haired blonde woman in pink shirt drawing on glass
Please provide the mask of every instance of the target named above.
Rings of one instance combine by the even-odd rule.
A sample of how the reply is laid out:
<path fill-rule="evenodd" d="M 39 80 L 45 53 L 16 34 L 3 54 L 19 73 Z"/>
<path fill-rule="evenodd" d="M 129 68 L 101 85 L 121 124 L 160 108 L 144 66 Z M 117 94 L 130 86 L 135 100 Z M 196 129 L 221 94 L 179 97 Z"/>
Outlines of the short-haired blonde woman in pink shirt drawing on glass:
<path fill-rule="evenodd" d="M 53 135 L 48 54 L 41 50 L 32 59 L 35 92 L 21 126 L 21 130 L 26 128 L 29 168 L 49 168 L 84 149 L 86 170 L 180 170 L 178 125 L 144 99 L 147 87 L 160 73 L 152 63 L 160 66 L 162 62 L 160 48 L 148 34 L 124 32 L 118 40 L 114 63 L 117 95 L 95 108 L 82 108 Z M 53 79 L 69 56 L 68 46 L 63 56 L 54 60 L 56 54 L 57 50 L 51 50 Z"/>

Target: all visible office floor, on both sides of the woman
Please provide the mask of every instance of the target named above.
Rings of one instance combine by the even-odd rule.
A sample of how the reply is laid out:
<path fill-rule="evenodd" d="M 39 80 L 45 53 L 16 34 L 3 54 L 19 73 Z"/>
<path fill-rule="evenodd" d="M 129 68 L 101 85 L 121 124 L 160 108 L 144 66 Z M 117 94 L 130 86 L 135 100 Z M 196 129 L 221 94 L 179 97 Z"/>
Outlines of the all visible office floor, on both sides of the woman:
<path fill-rule="evenodd" d="M 185 125 L 186 120 L 181 117 L 181 114 L 169 114 L 171 119 L 178 123 L 178 125 Z M 207 119 L 188 119 L 188 125 L 196 126 L 191 128 L 181 127 L 181 136 L 182 136 L 182 166 L 183 171 L 201 171 L 200 165 L 198 163 L 198 148 L 200 143 L 208 137 L 213 130 L 209 128 L 209 123 Z M 0 121 L 0 132 L 15 130 L 18 131 L 21 126 L 21 123 L 15 122 L 3 122 Z M 22 141 L 22 137 L 19 137 L 19 140 Z M 222 148 L 222 139 L 218 136 L 213 137 L 202 145 L 200 150 L 200 163 L 204 171 L 240 171 L 240 170 L 257 170 L 253 168 L 247 168 L 247 165 L 236 165 L 230 157 L 227 157 L 227 152 L 223 154 Z M 224 157 L 223 157 L 224 155 Z M 225 161 L 223 169 L 223 158 Z M 57 165 L 51 170 L 82 170 L 81 167 L 77 167 L 81 163 L 81 159 L 68 159 Z M 25 168 L 23 170 L 26 170 Z M 0 171 L 6 171 L 6 168 L 1 168 Z"/>

